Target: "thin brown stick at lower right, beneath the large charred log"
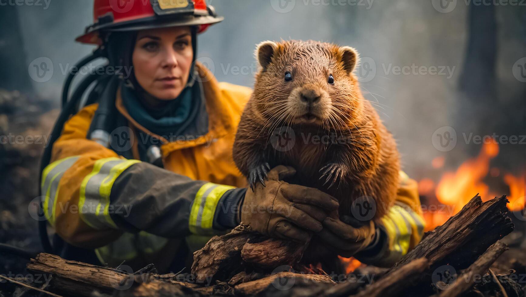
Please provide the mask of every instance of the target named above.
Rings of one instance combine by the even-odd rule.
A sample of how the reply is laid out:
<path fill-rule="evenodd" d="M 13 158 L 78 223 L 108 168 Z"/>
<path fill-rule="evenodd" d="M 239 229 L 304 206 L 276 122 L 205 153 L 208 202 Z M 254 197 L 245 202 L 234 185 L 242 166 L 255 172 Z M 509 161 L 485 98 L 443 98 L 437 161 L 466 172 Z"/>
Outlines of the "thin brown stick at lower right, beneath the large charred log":
<path fill-rule="evenodd" d="M 475 281 L 482 279 L 482 276 L 488 271 L 491 264 L 507 249 L 508 247 L 502 242 L 496 242 L 491 245 L 477 261 L 457 276 L 457 280 L 453 284 L 444 288 L 446 290 L 442 291 L 439 296 L 456 297 L 472 288 Z"/>

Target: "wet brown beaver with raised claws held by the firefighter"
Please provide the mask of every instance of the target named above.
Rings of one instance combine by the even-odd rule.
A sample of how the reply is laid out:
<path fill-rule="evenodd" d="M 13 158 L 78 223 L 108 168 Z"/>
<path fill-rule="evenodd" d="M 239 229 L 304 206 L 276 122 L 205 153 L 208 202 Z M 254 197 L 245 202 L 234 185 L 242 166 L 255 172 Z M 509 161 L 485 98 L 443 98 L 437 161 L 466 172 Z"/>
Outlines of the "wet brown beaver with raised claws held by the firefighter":
<path fill-rule="evenodd" d="M 270 168 L 291 166 L 297 173 L 286 181 L 338 199 L 337 213 L 329 216 L 355 227 L 377 222 L 396 198 L 399 154 L 353 74 L 357 51 L 313 40 L 282 40 L 260 43 L 256 57 L 260 67 L 254 92 L 233 149 L 250 187 L 265 185 Z M 358 199 L 376 204 L 372 216 L 352 209 Z M 316 240 L 302 260 L 338 265 L 336 255 Z"/>

